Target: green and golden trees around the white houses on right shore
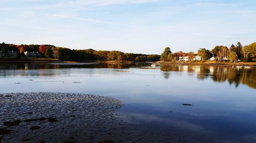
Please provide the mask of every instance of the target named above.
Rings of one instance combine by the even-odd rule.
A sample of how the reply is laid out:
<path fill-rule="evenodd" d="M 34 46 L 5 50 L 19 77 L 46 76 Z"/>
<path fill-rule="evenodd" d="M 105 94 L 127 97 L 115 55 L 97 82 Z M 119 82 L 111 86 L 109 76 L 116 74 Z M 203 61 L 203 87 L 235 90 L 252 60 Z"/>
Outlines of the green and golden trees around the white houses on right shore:
<path fill-rule="evenodd" d="M 215 46 L 214 49 L 208 50 L 200 48 L 197 53 L 192 51 L 185 53 L 182 51 L 172 53 L 169 47 L 166 47 L 160 56 L 161 61 L 178 61 L 180 56 L 188 56 L 189 60 L 195 56 L 201 56 L 203 61 L 209 60 L 211 57 L 217 58 L 218 61 L 256 61 L 256 42 L 243 46 L 240 42 L 237 45 L 232 44 L 229 48 L 226 46 Z"/>

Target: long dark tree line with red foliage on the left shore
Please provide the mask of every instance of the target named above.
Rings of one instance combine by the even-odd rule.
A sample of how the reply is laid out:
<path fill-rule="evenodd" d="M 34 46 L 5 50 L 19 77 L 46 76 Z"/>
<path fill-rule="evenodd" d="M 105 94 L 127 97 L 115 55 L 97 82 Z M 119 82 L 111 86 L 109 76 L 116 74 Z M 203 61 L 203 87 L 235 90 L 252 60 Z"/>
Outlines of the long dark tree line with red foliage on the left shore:
<path fill-rule="evenodd" d="M 72 61 L 137 61 L 137 62 L 156 62 L 160 60 L 158 54 L 124 53 L 121 51 L 94 50 L 94 49 L 69 49 L 56 47 L 54 45 L 15 45 L 0 43 L 0 51 L 16 51 L 19 57 L 25 56 L 24 52 L 38 52 L 45 58 L 55 58 Z"/>

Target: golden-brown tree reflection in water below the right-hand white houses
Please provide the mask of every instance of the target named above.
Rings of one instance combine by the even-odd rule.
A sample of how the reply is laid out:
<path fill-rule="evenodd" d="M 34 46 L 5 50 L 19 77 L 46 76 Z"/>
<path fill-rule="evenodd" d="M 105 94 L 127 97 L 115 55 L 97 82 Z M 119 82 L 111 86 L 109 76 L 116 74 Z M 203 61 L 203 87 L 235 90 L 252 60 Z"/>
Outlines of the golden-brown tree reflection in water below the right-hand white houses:
<path fill-rule="evenodd" d="M 191 65 L 161 65 L 161 71 L 164 77 L 167 71 L 195 72 L 199 80 L 210 77 L 216 82 L 228 81 L 238 87 L 239 84 L 245 84 L 256 88 L 256 69 L 232 68 L 225 66 L 191 66 Z"/>

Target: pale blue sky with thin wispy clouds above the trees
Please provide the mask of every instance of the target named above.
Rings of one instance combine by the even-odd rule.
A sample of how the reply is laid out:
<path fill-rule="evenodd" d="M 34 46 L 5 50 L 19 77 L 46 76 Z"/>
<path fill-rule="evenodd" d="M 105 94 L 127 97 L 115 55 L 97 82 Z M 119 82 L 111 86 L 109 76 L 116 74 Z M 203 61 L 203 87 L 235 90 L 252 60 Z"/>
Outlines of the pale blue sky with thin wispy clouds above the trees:
<path fill-rule="evenodd" d="M 0 0 L 0 42 L 160 54 L 256 42 L 256 1 Z"/>

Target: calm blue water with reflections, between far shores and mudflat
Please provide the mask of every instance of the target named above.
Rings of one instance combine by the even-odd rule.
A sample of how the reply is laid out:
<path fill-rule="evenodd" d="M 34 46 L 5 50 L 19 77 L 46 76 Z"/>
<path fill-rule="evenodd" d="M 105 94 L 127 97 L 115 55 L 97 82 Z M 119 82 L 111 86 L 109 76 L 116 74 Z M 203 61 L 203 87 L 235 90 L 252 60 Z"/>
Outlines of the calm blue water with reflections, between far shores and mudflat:
<path fill-rule="evenodd" d="M 143 68 L 151 67 L 0 64 L 0 93 L 111 96 L 124 101 L 119 110 L 122 119 L 141 129 L 193 137 L 197 142 L 256 142 L 255 68 Z"/>

